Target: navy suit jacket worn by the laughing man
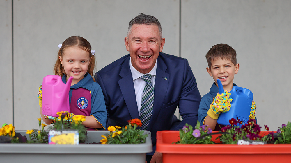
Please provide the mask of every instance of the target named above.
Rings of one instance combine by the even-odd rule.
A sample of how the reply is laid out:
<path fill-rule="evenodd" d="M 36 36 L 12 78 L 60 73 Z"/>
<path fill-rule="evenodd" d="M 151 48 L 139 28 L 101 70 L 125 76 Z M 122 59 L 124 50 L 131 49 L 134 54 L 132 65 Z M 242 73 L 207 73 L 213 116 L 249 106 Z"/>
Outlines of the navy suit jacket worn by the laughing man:
<path fill-rule="evenodd" d="M 139 118 L 129 59 L 125 55 L 95 74 L 104 94 L 107 127 L 125 126 L 128 120 Z M 196 126 L 201 100 L 187 59 L 173 55 L 159 53 L 154 88 L 153 111 L 147 128 L 151 131 L 154 151 L 149 154 L 155 152 L 157 131 L 179 130 L 186 123 Z M 182 122 L 174 116 L 177 106 Z"/>

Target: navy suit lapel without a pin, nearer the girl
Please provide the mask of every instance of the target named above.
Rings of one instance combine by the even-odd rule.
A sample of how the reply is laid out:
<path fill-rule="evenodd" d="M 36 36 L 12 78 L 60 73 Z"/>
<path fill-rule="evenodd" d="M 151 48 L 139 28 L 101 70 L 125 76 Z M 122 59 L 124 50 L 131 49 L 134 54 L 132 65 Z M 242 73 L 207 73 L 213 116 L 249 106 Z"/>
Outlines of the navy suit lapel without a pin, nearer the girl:
<path fill-rule="evenodd" d="M 123 99 L 130 113 L 131 119 L 139 118 L 132 74 L 129 68 L 129 58 L 123 63 L 119 75 L 122 77 L 118 81 Z M 130 119 L 127 119 L 130 120 Z"/>

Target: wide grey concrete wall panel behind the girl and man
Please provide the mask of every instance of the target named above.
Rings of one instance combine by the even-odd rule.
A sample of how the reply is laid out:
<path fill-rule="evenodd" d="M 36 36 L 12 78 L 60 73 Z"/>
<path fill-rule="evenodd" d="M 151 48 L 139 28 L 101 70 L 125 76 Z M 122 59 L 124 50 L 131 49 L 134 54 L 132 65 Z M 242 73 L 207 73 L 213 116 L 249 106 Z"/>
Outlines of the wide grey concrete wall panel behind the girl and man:
<path fill-rule="evenodd" d="M 96 50 L 96 72 L 128 54 L 124 45 L 128 23 L 141 12 L 161 22 L 163 52 L 179 55 L 178 0 L 14 1 L 16 129 L 38 128 L 38 86 L 53 73 L 58 44 L 72 35 L 86 38 Z"/>

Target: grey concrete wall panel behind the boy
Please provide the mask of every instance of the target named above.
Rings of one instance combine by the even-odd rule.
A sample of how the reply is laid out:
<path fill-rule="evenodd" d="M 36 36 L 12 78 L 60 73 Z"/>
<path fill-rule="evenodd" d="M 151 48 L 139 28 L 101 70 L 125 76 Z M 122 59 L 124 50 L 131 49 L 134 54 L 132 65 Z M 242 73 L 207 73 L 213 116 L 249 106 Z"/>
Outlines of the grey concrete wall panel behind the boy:
<path fill-rule="evenodd" d="M 201 95 L 214 82 L 205 58 L 215 44 L 237 52 L 234 82 L 254 93 L 258 124 L 277 130 L 290 121 L 291 1 L 182 0 L 182 57 L 189 60 Z"/>

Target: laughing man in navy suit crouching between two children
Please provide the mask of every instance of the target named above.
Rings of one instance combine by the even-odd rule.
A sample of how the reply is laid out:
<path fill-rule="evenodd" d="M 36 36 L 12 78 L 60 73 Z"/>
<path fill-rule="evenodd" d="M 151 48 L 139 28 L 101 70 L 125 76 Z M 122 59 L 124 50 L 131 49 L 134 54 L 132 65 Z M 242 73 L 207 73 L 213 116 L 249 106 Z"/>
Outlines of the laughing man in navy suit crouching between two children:
<path fill-rule="evenodd" d="M 136 16 L 129 22 L 124 42 L 129 54 L 95 74 L 104 94 L 107 127 L 140 119 L 146 84 L 140 77 L 151 74 L 154 101 L 146 130 L 151 131 L 153 152 L 147 154 L 147 161 L 160 162 L 162 154 L 155 152 L 156 132 L 179 130 L 186 123 L 196 126 L 201 95 L 188 61 L 162 53 L 165 38 L 158 19 L 143 13 Z M 174 115 L 177 106 L 182 122 Z"/>

